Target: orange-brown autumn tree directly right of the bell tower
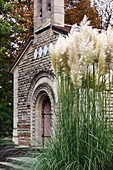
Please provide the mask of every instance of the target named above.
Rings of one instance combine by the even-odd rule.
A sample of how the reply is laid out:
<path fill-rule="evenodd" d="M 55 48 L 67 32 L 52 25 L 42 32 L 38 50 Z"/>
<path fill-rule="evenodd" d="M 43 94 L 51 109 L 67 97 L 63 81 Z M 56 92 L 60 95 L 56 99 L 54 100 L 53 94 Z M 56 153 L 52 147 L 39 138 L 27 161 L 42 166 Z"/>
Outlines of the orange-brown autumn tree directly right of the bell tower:
<path fill-rule="evenodd" d="M 91 20 L 91 25 L 100 27 L 100 20 L 95 6 L 91 7 L 90 0 L 65 0 L 65 22 L 80 24 L 84 15 Z"/>

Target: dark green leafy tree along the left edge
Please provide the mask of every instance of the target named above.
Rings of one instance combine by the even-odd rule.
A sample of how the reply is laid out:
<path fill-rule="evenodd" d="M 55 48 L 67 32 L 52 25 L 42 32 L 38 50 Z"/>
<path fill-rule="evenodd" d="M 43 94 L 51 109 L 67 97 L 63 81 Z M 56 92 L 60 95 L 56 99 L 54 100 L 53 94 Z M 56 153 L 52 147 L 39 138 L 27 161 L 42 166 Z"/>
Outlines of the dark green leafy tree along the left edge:
<path fill-rule="evenodd" d="M 11 17 L 11 3 L 0 0 L 0 137 L 12 132 L 12 74 L 11 35 L 15 33 L 16 20 Z"/>

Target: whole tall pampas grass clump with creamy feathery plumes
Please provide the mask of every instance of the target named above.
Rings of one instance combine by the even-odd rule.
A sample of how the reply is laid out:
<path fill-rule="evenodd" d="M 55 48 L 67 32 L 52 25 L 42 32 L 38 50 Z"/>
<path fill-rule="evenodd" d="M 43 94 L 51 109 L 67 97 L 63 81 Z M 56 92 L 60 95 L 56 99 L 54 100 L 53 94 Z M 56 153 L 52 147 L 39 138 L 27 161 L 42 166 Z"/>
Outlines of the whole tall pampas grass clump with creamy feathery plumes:
<path fill-rule="evenodd" d="M 36 170 L 113 170 L 110 114 L 113 30 L 84 17 L 50 46 L 58 89 L 58 125 Z"/>

